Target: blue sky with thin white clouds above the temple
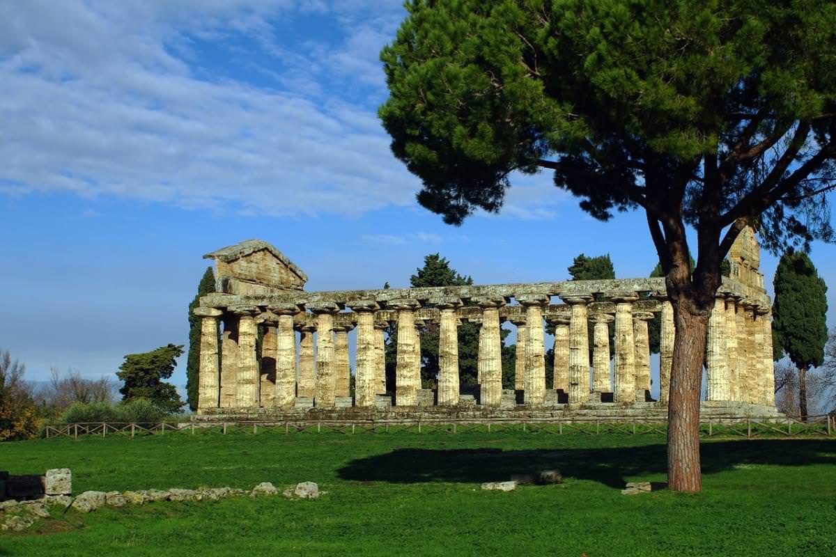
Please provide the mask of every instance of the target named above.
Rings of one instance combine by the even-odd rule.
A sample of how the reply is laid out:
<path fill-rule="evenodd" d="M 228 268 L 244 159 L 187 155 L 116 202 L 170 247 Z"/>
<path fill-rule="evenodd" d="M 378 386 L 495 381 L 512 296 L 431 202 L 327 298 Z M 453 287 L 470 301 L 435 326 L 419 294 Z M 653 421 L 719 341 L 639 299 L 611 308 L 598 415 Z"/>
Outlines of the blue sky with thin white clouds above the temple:
<path fill-rule="evenodd" d="M 0 347 L 43 380 L 184 344 L 201 256 L 248 238 L 308 290 L 407 286 L 436 251 L 477 283 L 562 280 L 581 252 L 646 276 L 644 217 L 592 220 L 548 174 L 459 228 L 415 203 L 376 117 L 403 16 L 400 0 L 0 4 Z M 812 256 L 833 285 L 836 246 Z"/>

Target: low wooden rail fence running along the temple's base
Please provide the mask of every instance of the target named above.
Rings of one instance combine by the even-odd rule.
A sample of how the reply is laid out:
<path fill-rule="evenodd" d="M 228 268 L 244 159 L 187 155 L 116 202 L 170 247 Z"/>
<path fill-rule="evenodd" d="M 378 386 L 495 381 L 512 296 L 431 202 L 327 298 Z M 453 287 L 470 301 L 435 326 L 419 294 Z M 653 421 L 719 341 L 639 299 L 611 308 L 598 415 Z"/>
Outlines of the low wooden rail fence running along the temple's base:
<path fill-rule="evenodd" d="M 181 422 L 181 423 L 124 423 L 93 422 L 48 425 L 46 437 L 79 438 L 79 435 L 107 437 L 108 435 L 130 436 L 206 433 L 218 431 L 223 435 L 232 432 L 252 431 L 259 428 L 265 432 L 279 433 L 499 433 L 516 430 L 526 433 L 570 433 L 600 435 L 602 433 L 628 433 L 631 435 L 661 433 L 667 431 L 667 418 L 635 418 L 632 416 L 607 416 L 604 418 L 446 418 L 446 419 L 398 419 L 381 420 L 252 420 L 228 422 Z M 807 421 L 798 418 L 776 418 L 738 416 L 711 416 L 701 418 L 701 437 L 743 437 L 766 436 L 826 436 L 832 437 L 836 429 L 836 418 L 829 415 L 809 416 Z"/>

